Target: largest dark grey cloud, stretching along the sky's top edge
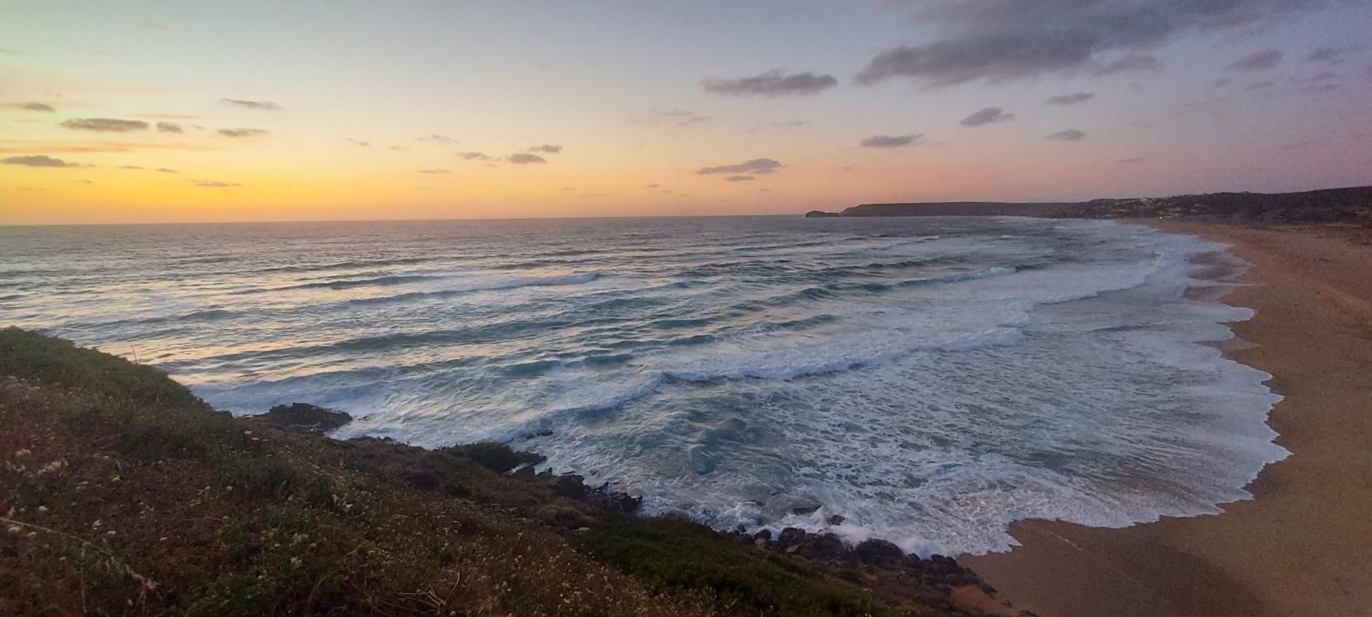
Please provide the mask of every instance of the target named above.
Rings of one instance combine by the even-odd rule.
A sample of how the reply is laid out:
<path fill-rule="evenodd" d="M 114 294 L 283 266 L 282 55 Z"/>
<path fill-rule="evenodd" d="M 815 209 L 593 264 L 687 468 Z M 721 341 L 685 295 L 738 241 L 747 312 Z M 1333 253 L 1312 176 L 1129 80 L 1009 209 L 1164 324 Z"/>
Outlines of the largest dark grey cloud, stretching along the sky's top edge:
<path fill-rule="evenodd" d="M 938 33 L 878 52 L 859 84 L 908 78 L 925 86 L 1044 73 L 1151 69 L 1146 52 L 1195 33 L 1265 26 L 1323 0 L 930 0 L 912 18 Z M 1110 62 L 1102 56 L 1125 53 Z M 1133 55 L 1133 56 L 1131 56 Z M 1154 59 L 1155 60 L 1155 59 Z"/>

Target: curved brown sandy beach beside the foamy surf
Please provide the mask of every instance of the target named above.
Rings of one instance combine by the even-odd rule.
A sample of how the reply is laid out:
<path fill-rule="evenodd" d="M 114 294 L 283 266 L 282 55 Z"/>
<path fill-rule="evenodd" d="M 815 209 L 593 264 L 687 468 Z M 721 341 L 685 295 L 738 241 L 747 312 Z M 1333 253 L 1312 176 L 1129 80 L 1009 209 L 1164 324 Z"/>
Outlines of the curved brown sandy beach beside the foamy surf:
<path fill-rule="evenodd" d="M 1224 513 L 1125 529 L 1022 521 L 1010 553 L 967 557 L 1040 616 L 1372 614 L 1372 234 L 1147 221 L 1251 263 L 1229 356 L 1273 374 L 1291 451 Z"/>

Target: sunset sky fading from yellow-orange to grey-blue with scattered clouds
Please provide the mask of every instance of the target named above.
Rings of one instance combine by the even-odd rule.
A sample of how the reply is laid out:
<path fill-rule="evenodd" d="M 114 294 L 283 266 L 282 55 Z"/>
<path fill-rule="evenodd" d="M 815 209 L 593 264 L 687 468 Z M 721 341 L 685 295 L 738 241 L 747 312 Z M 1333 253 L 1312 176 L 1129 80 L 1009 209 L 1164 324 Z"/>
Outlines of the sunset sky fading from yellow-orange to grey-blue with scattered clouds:
<path fill-rule="evenodd" d="M 0 225 L 1372 184 L 1372 0 L 0 0 Z"/>

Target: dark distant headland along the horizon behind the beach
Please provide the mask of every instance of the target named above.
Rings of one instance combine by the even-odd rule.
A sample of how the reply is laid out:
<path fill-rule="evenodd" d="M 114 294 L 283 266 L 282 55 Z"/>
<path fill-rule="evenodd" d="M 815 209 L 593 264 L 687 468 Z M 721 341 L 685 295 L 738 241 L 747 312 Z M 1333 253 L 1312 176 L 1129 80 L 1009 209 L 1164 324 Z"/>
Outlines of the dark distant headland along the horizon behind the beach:
<path fill-rule="evenodd" d="M 934 202 L 868 203 L 825 217 L 1048 217 L 1224 218 L 1265 223 L 1350 222 L 1372 225 L 1372 186 L 1299 193 L 1205 193 L 1172 197 L 1093 199 L 1076 203 Z"/>

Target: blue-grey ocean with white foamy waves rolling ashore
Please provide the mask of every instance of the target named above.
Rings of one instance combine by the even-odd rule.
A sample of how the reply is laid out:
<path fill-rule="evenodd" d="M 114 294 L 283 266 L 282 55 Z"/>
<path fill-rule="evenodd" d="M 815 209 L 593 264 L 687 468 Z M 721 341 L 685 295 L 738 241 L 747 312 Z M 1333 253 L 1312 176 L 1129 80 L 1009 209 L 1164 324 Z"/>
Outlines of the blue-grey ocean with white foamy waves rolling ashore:
<path fill-rule="evenodd" d="M 1242 267 L 1026 218 L 0 228 L 0 326 L 235 414 L 508 441 L 649 514 L 956 555 L 1010 547 L 1017 520 L 1249 498 L 1287 452 L 1269 376 L 1206 344 L 1250 317 L 1216 300 Z"/>

